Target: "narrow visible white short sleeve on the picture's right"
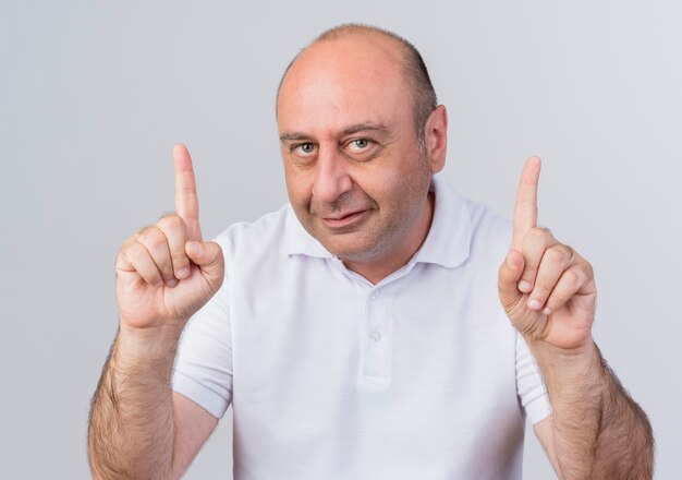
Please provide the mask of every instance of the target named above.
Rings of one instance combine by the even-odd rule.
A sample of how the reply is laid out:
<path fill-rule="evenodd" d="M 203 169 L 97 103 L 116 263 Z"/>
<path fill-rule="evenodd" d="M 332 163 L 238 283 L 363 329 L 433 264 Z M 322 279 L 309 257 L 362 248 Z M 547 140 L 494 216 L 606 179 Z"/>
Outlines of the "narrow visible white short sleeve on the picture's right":
<path fill-rule="evenodd" d="M 551 415 L 551 404 L 540 369 L 523 336 L 516 332 L 516 394 L 532 424 Z"/>

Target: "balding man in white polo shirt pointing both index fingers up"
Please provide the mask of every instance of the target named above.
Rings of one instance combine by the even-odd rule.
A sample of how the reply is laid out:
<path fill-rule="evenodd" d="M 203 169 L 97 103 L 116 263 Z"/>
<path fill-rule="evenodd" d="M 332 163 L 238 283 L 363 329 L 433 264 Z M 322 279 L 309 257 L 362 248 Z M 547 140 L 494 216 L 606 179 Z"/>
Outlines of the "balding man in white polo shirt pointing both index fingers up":
<path fill-rule="evenodd" d="M 179 145 L 175 214 L 124 242 L 96 478 L 180 477 L 229 405 L 236 479 L 520 478 L 526 415 L 563 479 L 651 477 L 592 268 L 536 226 L 539 159 L 513 230 L 458 196 L 421 57 L 373 27 L 301 52 L 277 119 L 290 206 L 204 241 Z"/>

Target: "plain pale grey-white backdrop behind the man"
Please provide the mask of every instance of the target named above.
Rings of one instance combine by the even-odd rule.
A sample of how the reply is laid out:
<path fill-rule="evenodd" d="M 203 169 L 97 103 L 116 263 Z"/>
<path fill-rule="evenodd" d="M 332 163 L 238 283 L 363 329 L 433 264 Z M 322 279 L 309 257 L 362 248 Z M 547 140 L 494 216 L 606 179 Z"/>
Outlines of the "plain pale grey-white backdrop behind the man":
<path fill-rule="evenodd" d="M 464 195 L 511 215 L 543 157 L 540 221 L 594 264 L 596 339 L 650 417 L 656 478 L 682 478 L 682 3 L 0 3 L 0 478 L 88 478 L 113 263 L 172 209 L 173 143 L 205 235 L 279 207 L 277 84 L 351 21 L 421 49 Z M 186 478 L 231 478 L 230 448 L 226 419 Z M 532 434 L 525 472 L 552 478 Z"/>

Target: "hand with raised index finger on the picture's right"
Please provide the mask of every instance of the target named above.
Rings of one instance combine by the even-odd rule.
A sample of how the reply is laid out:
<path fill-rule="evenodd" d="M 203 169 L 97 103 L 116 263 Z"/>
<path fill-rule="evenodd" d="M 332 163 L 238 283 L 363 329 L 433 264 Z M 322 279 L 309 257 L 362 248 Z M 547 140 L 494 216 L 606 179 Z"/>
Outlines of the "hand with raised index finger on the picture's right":
<path fill-rule="evenodd" d="M 516 194 L 511 249 L 499 271 L 500 300 L 526 341 L 580 351 L 592 346 L 594 274 L 572 248 L 537 227 L 539 175 L 540 159 L 528 158 Z"/>

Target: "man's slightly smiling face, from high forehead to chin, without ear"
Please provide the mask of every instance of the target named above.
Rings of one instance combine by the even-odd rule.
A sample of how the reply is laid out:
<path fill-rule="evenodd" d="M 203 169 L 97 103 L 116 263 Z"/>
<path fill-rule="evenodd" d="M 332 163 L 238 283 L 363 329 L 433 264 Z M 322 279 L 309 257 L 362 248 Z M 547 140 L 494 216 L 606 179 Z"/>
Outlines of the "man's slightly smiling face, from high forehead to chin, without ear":
<path fill-rule="evenodd" d="M 282 83 L 278 125 L 289 197 L 313 237 L 346 262 L 412 256 L 430 223 L 431 164 L 390 41 L 308 48 Z"/>

